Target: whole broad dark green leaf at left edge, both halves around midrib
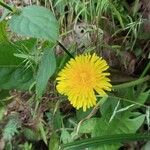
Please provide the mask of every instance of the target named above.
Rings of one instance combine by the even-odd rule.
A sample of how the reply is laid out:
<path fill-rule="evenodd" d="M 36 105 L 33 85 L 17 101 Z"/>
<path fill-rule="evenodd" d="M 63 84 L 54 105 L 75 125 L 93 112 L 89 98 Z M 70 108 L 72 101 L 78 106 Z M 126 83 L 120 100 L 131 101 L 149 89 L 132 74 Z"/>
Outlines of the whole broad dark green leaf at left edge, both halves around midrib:
<path fill-rule="evenodd" d="M 34 45 L 33 39 L 0 44 L 0 89 L 28 90 L 34 82 L 33 72 L 21 67 L 22 59 L 15 57 L 14 53 L 30 50 Z"/>

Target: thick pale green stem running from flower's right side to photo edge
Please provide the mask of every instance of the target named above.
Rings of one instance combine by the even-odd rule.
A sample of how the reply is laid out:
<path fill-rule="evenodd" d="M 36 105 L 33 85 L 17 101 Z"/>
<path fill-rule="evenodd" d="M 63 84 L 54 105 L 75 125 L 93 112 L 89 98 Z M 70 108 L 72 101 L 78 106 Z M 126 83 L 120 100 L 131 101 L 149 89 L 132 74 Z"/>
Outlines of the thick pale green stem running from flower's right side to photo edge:
<path fill-rule="evenodd" d="M 139 78 L 135 81 L 131 81 L 131 82 L 128 82 L 128 83 L 122 83 L 122 84 L 119 84 L 119 85 L 114 85 L 113 86 L 113 89 L 122 89 L 122 88 L 128 88 L 128 87 L 131 87 L 131 86 L 135 86 L 135 85 L 138 85 L 138 84 L 141 84 L 143 82 L 146 82 L 150 80 L 150 76 L 146 76 L 144 78 Z"/>

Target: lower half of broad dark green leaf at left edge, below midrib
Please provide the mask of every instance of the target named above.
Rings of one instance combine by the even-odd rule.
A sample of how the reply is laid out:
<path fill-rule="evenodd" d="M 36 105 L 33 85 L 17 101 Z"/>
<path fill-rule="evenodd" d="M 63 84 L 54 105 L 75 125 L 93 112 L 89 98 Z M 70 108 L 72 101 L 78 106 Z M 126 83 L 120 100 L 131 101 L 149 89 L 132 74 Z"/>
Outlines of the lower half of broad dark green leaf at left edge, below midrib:
<path fill-rule="evenodd" d="M 28 90 L 35 81 L 33 72 L 24 68 L 0 67 L 0 89 Z"/>

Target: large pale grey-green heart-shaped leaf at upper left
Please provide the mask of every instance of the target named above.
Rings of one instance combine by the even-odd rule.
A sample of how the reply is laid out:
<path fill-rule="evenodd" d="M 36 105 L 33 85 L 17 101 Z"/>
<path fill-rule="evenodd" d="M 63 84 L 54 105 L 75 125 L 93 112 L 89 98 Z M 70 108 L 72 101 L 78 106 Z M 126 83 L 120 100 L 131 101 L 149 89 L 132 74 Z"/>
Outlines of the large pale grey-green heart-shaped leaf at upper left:
<path fill-rule="evenodd" d="M 52 12 L 40 6 L 28 6 L 10 20 L 10 29 L 23 36 L 44 38 L 55 42 L 59 27 Z"/>

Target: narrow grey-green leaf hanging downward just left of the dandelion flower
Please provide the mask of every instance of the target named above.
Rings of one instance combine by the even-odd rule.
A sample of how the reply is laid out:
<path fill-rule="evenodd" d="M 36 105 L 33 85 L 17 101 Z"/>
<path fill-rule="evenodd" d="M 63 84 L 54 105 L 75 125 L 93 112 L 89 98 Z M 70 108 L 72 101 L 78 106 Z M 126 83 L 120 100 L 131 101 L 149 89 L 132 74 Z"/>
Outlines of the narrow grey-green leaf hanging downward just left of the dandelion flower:
<path fill-rule="evenodd" d="M 52 48 L 46 48 L 39 65 L 37 73 L 36 94 L 37 97 L 42 97 L 45 92 L 47 82 L 53 75 L 56 69 L 56 59 Z"/>

